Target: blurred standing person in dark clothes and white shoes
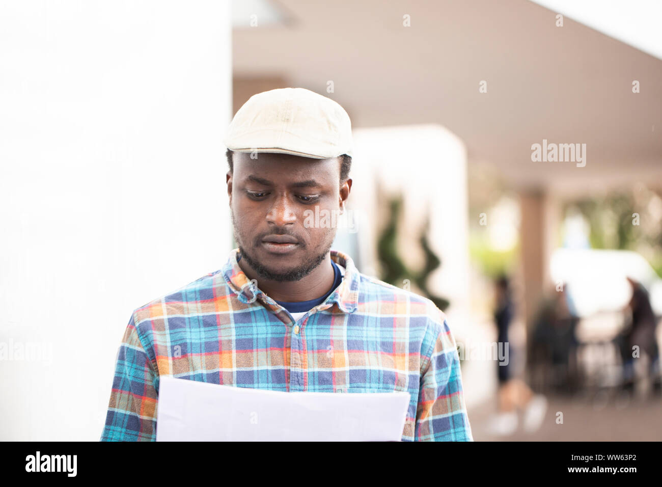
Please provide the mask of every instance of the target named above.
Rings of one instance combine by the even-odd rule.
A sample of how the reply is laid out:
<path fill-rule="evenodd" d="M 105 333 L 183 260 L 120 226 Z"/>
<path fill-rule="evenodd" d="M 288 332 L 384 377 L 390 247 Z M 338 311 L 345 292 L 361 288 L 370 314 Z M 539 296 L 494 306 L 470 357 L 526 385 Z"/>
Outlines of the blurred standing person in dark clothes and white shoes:
<path fill-rule="evenodd" d="M 524 431 L 537 431 L 547 411 L 547 400 L 542 394 L 534 394 L 526 383 L 514 376 L 513 351 L 508 340 L 508 327 L 514 316 L 514 303 L 510 290 L 510 280 L 502 275 L 495 280 L 494 319 L 497 330 L 498 347 L 506 354 L 504 360 L 496 363 L 498 378 L 498 412 L 493 418 L 490 430 L 496 435 L 510 435 L 518 425 L 518 409 L 524 411 Z"/>

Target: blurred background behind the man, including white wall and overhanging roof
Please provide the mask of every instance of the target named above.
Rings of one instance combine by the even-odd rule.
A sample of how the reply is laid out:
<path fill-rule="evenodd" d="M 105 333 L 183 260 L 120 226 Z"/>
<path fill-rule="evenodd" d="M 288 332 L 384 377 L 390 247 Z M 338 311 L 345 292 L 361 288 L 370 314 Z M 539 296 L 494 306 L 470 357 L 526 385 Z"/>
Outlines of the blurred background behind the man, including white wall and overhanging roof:
<path fill-rule="evenodd" d="M 334 246 L 444 309 L 475 440 L 662 439 L 661 5 L 3 1 L 0 439 L 99 438 L 132 310 L 231 248 L 232 115 L 290 86 L 348 111 Z"/>

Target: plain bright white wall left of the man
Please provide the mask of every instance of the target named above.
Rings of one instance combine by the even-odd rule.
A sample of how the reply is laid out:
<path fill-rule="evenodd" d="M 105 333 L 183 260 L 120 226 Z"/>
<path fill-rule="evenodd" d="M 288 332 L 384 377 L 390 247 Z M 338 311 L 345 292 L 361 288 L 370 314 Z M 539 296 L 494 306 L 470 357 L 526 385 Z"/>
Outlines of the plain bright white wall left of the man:
<path fill-rule="evenodd" d="M 227 1 L 0 3 L 0 440 L 98 441 L 133 309 L 224 264 L 231 83 Z"/>

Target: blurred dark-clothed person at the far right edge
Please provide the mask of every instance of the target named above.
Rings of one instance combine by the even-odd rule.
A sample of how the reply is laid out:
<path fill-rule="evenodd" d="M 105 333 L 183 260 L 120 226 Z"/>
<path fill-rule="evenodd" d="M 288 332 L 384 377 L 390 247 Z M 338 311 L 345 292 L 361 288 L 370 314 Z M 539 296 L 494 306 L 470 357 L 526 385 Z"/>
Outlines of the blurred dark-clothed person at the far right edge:
<path fill-rule="evenodd" d="M 653 382 L 653 392 L 660 394 L 662 387 L 659 371 L 659 347 L 655 335 L 657 318 L 653 313 L 648 292 L 643 285 L 632 278 L 627 279 L 632 288 L 632 298 L 624 310 L 628 315 L 628 323 L 614 339 L 623 360 L 622 388 L 628 392 L 634 392 L 634 359 L 639 357 L 636 352 L 643 351 L 649 359 L 648 372 L 649 380 Z"/>

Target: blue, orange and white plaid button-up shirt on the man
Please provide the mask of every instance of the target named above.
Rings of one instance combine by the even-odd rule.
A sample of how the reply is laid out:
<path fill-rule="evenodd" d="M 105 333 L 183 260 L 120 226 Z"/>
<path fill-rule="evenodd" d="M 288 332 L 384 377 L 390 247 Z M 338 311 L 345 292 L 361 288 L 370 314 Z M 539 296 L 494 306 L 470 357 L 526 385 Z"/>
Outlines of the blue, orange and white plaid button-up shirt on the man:
<path fill-rule="evenodd" d="M 359 273 L 331 250 L 346 269 L 342 284 L 295 327 L 237 254 L 133 312 L 101 441 L 156 440 L 162 375 L 279 391 L 406 391 L 403 441 L 473 441 L 455 339 L 432 301 Z"/>

